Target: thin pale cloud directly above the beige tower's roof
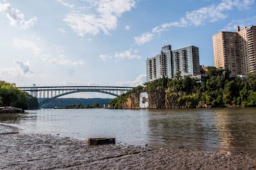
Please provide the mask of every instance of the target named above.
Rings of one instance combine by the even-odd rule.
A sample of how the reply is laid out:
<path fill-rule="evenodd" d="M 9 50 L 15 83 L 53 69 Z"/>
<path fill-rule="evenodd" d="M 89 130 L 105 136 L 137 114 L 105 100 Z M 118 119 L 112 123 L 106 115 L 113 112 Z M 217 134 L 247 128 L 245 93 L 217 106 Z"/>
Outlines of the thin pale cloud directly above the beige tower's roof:
<path fill-rule="evenodd" d="M 245 27 L 248 25 L 253 25 L 256 23 L 256 16 L 252 18 L 246 18 L 243 20 L 232 20 L 232 22 L 228 23 L 222 30 L 223 31 L 236 31 L 237 26 Z"/>

